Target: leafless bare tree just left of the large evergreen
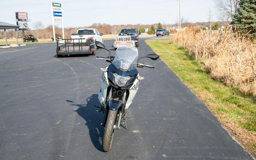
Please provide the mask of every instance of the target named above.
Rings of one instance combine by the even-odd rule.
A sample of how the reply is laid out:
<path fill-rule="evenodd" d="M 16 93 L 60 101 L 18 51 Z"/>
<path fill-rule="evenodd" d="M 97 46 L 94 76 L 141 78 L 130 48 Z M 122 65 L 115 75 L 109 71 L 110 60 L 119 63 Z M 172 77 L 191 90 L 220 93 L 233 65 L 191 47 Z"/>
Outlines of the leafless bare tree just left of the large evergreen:
<path fill-rule="evenodd" d="M 215 5 L 221 17 L 231 20 L 233 15 L 237 13 L 239 1 L 240 0 L 215 0 Z"/>

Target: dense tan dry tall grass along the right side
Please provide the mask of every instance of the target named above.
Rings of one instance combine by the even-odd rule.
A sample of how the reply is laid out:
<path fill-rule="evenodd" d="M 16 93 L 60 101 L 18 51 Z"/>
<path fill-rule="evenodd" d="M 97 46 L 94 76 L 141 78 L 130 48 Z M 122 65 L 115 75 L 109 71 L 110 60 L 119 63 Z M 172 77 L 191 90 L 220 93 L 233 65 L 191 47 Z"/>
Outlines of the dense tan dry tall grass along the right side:
<path fill-rule="evenodd" d="M 195 60 L 203 62 L 210 77 L 227 85 L 239 86 L 256 97 L 255 44 L 230 27 L 219 33 L 188 28 L 170 40 L 188 50 Z"/>

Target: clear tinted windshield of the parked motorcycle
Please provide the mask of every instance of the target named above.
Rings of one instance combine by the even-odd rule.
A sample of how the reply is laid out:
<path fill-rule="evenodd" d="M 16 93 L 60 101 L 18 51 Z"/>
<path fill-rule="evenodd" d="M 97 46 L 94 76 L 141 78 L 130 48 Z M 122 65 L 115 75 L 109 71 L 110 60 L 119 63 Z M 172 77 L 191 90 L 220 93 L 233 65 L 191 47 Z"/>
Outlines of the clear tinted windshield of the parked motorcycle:
<path fill-rule="evenodd" d="M 129 45 L 119 45 L 112 64 L 117 69 L 132 71 L 137 67 L 138 49 Z"/>

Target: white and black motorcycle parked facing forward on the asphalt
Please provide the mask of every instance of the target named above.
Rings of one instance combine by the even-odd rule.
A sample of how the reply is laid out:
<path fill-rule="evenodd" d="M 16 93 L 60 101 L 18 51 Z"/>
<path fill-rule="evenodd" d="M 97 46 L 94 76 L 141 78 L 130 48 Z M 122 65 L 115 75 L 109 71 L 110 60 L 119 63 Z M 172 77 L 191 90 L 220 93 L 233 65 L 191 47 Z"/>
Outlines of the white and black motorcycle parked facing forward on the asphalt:
<path fill-rule="evenodd" d="M 138 49 L 129 45 L 119 45 L 116 50 L 116 56 L 111 56 L 111 52 L 106 49 L 105 45 L 99 41 L 95 42 L 96 46 L 109 52 L 108 57 L 97 56 L 96 59 L 103 59 L 111 63 L 106 68 L 101 68 L 101 90 L 98 99 L 101 107 L 96 111 L 102 111 L 104 114 L 102 126 L 105 127 L 102 147 L 105 152 L 109 151 L 112 145 L 115 129 L 120 129 L 123 119 L 125 128 L 127 128 L 127 109 L 135 97 L 141 77 L 136 67 L 149 67 L 140 63 L 140 58 L 151 58 L 157 60 L 159 55 L 149 54 L 138 57 Z M 122 125 L 123 126 L 123 125 Z"/>

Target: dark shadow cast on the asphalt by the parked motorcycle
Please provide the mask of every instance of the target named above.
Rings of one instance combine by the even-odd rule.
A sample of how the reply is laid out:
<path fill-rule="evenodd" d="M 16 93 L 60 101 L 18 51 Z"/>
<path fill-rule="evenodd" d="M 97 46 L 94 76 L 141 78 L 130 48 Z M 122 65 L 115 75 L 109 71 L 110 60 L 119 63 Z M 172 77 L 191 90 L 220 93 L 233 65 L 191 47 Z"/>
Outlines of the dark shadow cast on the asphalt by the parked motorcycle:
<path fill-rule="evenodd" d="M 91 142 L 93 143 L 94 147 L 104 152 L 102 149 L 102 141 L 104 136 L 104 128 L 101 126 L 103 114 L 101 112 L 96 112 L 94 106 L 99 106 L 98 95 L 93 94 L 91 97 L 86 99 L 87 104 L 77 104 L 71 100 L 66 100 L 70 102 L 71 106 L 79 107 L 77 110 L 77 114 L 85 119 L 85 125 L 89 129 L 89 135 L 91 138 Z"/>

